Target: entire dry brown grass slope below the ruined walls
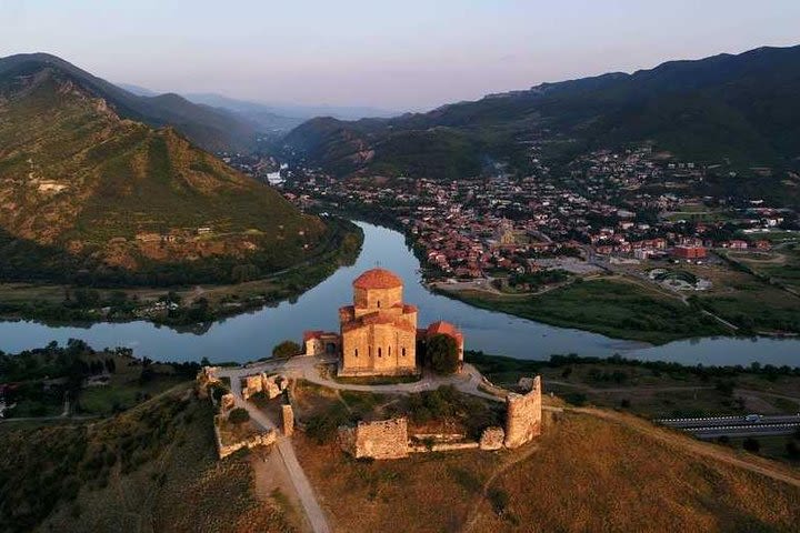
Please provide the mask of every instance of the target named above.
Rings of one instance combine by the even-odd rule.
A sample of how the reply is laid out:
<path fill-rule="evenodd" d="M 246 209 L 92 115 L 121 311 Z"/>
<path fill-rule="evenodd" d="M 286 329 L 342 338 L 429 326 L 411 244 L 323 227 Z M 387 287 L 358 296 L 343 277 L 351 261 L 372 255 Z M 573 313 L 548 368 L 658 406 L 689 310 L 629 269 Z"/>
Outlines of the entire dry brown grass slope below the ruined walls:
<path fill-rule="evenodd" d="M 617 413 L 554 415 L 513 452 L 362 462 L 296 442 L 336 531 L 792 531 L 800 520 L 800 481 Z"/>

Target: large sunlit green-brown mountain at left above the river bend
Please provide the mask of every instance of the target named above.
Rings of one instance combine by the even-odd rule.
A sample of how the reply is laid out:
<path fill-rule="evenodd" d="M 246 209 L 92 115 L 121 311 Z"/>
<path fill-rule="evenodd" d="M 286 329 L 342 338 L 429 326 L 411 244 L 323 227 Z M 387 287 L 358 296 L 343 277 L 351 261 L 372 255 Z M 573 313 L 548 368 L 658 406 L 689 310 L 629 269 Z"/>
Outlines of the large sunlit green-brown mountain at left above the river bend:
<path fill-rule="evenodd" d="M 177 128 L 126 118 L 139 101 L 118 91 L 51 59 L 0 63 L 0 278 L 228 281 L 310 257 L 319 219 Z"/>

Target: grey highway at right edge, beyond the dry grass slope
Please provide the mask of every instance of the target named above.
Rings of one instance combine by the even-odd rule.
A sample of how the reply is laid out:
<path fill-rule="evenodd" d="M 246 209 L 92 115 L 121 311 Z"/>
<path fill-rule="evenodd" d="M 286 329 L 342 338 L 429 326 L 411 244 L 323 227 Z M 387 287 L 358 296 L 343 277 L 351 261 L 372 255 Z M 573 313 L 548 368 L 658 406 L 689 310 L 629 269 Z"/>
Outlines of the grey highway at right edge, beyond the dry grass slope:
<path fill-rule="evenodd" d="M 702 419 L 662 419 L 657 423 L 682 430 L 699 439 L 718 436 L 774 436 L 791 435 L 800 430 L 800 415 L 771 415 L 758 420 L 744 416 L 712 416 Z"/>

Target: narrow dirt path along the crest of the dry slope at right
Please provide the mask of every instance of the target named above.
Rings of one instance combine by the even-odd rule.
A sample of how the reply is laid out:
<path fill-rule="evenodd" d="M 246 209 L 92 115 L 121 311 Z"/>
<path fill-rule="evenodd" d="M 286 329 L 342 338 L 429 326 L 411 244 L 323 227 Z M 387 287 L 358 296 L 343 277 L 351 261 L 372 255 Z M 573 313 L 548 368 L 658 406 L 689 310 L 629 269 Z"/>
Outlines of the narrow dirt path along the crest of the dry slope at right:
<path fill-rule="evenodd" d="M 567 411 L 588 414 L 590 416 L 596 416 L 602 420 L 614 422 L 624 425 L 626 428 L 629 428 L 631 430 L 634 430 L 641 434 L 644 434 L 651 439 L 654 439 L 668 446 L 678 447 L 684 452 L 694 455 L 713 459 L 731 466 L 747 470 L 749 472 L 761 474 L 776 481 L 800 487 L 800 473 L 782 470 L 766 460 L 761 460 L 754 456 L 748 461 L 744 461 L 737 457 L 731 452 L 719 449 L 713 444 L 696 441 L 683 435 L 670 434 L 661 428 L 654 426 L 647 421 L 639 420 L 631 415 L 621 414 L 614 411 L 602 411 L 593 408 L 569 408 L 567 409 Z"/>

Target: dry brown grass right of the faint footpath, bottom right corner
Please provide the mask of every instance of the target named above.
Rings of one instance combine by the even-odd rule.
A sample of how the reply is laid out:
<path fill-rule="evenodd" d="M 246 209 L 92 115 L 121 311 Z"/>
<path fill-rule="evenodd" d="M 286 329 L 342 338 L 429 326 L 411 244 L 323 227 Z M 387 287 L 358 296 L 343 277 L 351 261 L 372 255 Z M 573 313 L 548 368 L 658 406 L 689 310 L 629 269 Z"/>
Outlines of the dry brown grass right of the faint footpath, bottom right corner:
<path fill-rule="evenodd" d="M 678 445 L 563 415 L 539 452 L 492 486 L 509 494 L 507 511 L 482 502 L 473 531 L 797 531 L 800 489 L 699 457 L 680 446 L 686 438 L 673 439 Z"/>

